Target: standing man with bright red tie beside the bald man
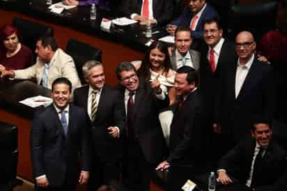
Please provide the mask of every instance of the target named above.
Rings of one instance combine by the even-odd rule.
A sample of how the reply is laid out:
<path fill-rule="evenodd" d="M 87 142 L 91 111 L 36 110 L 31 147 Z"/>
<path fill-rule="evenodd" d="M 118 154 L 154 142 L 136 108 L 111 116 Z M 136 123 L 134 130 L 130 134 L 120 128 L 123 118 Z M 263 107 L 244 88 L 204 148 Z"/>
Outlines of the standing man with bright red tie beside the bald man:
<path fill-rule="evenodd" d="M 217 80 L 222 73 L 222 68 L 234 63 L 237 59 L 235 43 L 222 38 L 222 33 L 222 26 L 217 18 L 204 22 L 203 37 L 205 45 L 201 47 L 201 64 L 199 68 L 201 84 L 199 89 L 206 106 L 210 109 L 210 117 L 213 112 L 214 94 L 219 83 Z"/>

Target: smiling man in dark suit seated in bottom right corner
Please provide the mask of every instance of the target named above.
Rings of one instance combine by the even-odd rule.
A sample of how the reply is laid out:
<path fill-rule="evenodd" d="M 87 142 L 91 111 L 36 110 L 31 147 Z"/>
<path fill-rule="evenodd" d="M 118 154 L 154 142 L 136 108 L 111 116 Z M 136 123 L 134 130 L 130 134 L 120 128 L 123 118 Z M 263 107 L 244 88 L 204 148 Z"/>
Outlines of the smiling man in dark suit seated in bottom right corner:
<path fill-rule="evenodd" d="M 243 139 L 219 160 L 217 181 L 240 183 L 254 190 L 281 190 L 286 177 L 286 151 L 272 139 L 270 124 L 256 119 L 252 137 Z"/>

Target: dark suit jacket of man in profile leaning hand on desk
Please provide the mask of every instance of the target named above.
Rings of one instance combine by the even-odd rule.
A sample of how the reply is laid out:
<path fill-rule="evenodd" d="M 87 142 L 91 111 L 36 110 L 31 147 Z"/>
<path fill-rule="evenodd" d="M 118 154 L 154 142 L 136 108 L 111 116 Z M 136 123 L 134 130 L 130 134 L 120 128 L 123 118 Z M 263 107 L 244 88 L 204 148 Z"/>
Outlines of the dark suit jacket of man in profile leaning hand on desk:
<path fill-rule="evenodd" d="M 170 153 L 171 164 L 203 164 L 205 150 L 205 111 L 199 91 L 190 93 L 171 122 Z"/>

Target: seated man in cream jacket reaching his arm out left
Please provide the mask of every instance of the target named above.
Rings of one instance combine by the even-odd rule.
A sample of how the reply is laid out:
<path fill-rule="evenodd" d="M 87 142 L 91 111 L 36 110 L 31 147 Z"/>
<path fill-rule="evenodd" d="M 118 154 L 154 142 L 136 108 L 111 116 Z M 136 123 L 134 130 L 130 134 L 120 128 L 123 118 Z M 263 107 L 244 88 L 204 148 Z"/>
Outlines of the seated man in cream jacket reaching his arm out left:
<path fill-rule="evenodd" d="M 81 86 L 75 63 L 71 56 L 58 48 L 54 38 L 43 36 L 37 40 L 37 61 L 33 66 L 22 70 L 6 70 L 0 65 L 1 77 L 15 79 L 36 78 L 37 84 L 52 89 L 52 82 L 59 77 L 66 77 L 72 82 L 72 87 Z"/>

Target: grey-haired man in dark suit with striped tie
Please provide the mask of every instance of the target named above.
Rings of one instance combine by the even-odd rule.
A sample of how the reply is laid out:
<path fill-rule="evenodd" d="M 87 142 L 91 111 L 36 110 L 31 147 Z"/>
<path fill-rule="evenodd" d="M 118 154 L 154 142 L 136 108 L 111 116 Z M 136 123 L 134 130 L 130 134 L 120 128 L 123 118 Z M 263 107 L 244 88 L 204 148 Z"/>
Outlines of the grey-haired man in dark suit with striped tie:
<path fill-rule="evenodd" d="M 88 188 L 97 190 L 100 185 L 119 178 L 122 155 L 119 137 L 125 126 L 125 111 L 118 100 L 119 92 L 104 84 L 102 63 L 93 60 L 86 62 L 83 75 L 88 85 L 75 89 L 74 104 L 83 107 L 90 117 L 94 155 Z"/>

